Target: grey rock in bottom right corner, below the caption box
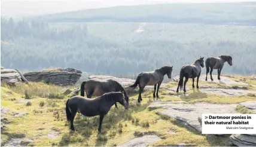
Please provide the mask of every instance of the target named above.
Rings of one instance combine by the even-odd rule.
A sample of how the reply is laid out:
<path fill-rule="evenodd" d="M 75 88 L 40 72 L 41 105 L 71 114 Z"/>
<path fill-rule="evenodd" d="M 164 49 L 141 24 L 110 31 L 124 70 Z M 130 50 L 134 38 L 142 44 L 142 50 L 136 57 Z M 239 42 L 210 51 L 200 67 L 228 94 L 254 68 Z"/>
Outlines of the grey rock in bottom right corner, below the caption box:
<path fill-rule="evenodd" d="M 230 140 L 237 146 L 256 146 L 256 136 L 248 134 L 232 134 Z"/>

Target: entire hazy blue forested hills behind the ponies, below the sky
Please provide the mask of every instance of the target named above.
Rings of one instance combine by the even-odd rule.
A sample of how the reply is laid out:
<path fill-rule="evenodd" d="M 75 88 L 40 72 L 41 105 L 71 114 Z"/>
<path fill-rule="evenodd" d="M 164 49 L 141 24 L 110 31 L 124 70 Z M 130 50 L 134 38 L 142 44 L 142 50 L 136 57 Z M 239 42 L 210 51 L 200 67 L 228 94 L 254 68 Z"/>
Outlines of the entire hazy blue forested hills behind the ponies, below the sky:
<path fill-rule="evenodd" d="M 161 4 L 1 18 L 1 65 L 21 71 L 74 67 L 134 77 L 200 56 L 233 57 L 222 73 L 256 73 L 255 2 Z M 203 69 L 205 73 L 205 69 Z M 217 73 L 217 72 L 216 72 Z"/>

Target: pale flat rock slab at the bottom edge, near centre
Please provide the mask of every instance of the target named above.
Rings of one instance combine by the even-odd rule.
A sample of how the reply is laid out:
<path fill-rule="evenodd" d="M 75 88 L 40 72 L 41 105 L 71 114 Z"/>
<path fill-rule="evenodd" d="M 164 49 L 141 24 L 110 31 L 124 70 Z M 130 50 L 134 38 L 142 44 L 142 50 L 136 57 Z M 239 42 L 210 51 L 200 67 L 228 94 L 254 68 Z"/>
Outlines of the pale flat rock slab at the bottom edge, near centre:
<path fill-rule="evenodd" d="M 148 144 L 157 142 L 158 140 L 161 140 L 159 136 L 146 135 L 132 139 L 120 146 L 148 146 Z"/>

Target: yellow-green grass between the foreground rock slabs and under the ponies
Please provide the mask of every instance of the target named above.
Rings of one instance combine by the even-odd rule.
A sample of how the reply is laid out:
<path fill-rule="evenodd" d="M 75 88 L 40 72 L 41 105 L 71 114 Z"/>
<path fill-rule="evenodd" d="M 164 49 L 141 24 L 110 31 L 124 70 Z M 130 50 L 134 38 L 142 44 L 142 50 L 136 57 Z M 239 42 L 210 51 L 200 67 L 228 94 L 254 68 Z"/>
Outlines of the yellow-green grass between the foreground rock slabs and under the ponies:
<path fill-rule="evenodd" d="M 188 82 L 191 85 L 191 80 Z M 207 82 L 201 83 L 208 84 Z M 210 85 L 210 84 L 208 84 Z M 215 84 L 218 86 L 218 84 Z M 176 82 L 170 82 L 167 87 L 176 87 Z M 11 137 L 25 137 L 33 139 L 30 145 L 34 146 L 118 146 L 135 137 L 145 134 L 155 134 L 161 138 L 158 142 L 150 146 L 171 146 L 185 143 L 196 146 L 228 146 L 228 136 L 218 137 L 212 135 L 202 135 L 193 130 L 188 130 L 175 123 L 169 117 L 158 115 L 157 112 L 163 108 L 148 109 L 153 100 L 153 91 L 147 90 L 142 94 L 142 103 L 138 104 L 138 93 L 130 96 L 130 107 L 126 111 L 119 105 L 114 106 L 103 119 L 103 132 L 97 134 L 99 116 L 83 117 L 77 114 L 74 127 L 77 131 L 66 126 L 65 102 L 68 96 L 60 97 L 59 94 L 65 87 L 56 85 L 46 85 L 33 83 L 31 85 L 21 84 L 16 87 L 4 85 L 1 87 L 1 106 L 10 108 L 6 117 L 10 124 L 1 129 L 1 145 Z M 211 103 L 239 103 L 248 100 L 255 100 L 255 96 L 224 97 L 215 94 L 201 93 L 200 90 L 189 91 L 189 96 L 176 96 L 175 92 L 166 91 L 167 88 L 160 88 L 159 96 L 163 101 L 183 100 L 188 103 L 211 102 Z M 28 103 L 17 103 L 25 99 L 27 90 L 31 100 Z M 55 97 L 51 97 L 55 96 Z M 237 106 L 236 111 L 242 114 L 251 113 L 244 106 Z M 28 112 L 23 117 L 13 117 L 12 112 Z M 59 136 L 56 139 L 48 138 L 48 133 L 57 131 Z M 170 133 L 170 130 L 175 133 Z"/>

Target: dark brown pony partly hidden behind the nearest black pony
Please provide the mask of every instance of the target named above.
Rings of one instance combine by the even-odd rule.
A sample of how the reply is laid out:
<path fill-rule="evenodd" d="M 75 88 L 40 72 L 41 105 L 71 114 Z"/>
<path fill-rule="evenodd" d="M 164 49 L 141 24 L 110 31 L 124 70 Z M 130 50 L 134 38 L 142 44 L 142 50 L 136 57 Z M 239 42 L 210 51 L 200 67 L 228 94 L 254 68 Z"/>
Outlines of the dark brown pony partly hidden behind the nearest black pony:
<path fill-rule="evenodd" d="M 102 94 L 109 93 L 111 91 L 121 91 L 124 93 L 125 100 L 129 106 L 129 97 L 126 93 L 126 90 L 124 90 L 124 87 L 119 82 L 113 79 L 108 79 L 106 81 L 89 79 L 87 81 L 82 82 L 80 89 L 81 96 L 84 96 L 85 90 L 87 98 L 92 98 L 92 96 L 102 96 Z M 117 103 L 115 103 L 115 108 L 117 108 Z"/>

